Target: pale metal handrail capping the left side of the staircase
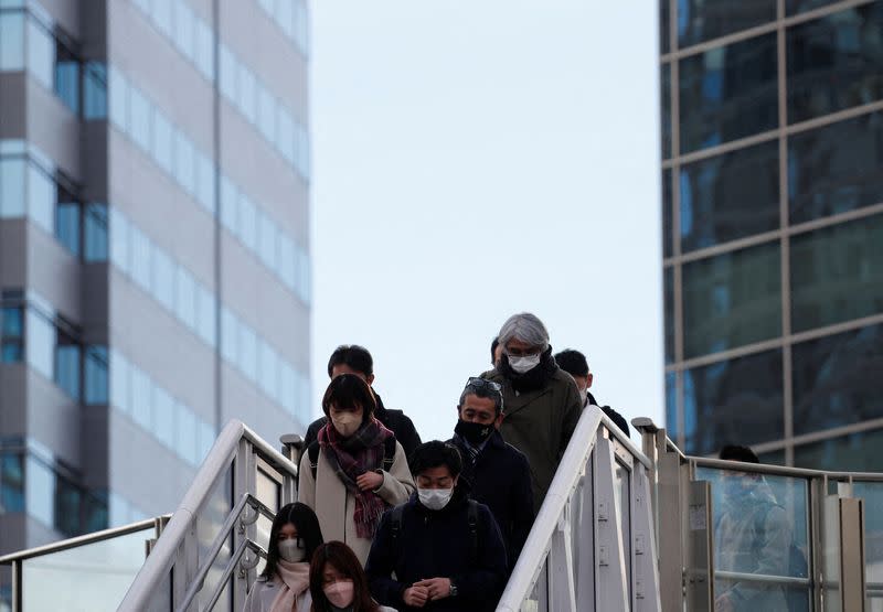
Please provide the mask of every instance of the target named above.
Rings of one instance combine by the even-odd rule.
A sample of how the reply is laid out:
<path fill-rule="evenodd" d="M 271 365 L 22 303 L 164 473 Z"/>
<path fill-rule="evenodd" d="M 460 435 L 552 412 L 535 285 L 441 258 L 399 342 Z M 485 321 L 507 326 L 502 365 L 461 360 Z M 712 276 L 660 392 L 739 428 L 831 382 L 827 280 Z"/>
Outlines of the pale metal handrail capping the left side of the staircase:
<path fill-rule="evenodd" d="M 227 422 L 224 429 L 221 430 L 221 434 L 215 440 L 212 450 L 209 451 L 199 472 L 196 472 L 193 484 L 166 526 L 162 537 L 157 540 L 157 545 L 135 578 L 135 582 L 126 593 L 119 610 L 139 611 L 147 609 L 157 586 L 162 582 L 172 569 L 178 548 L 190 533 L 191 523 L 211 497 L 217 479 L 233 463 L 242 440 L 251 443 L 258 454 L 275 469 L 288 473 L 291 477 L 297 476 L 297 465 L 260 439 L 245 423 L 237 419 L 232 419 Z"/>

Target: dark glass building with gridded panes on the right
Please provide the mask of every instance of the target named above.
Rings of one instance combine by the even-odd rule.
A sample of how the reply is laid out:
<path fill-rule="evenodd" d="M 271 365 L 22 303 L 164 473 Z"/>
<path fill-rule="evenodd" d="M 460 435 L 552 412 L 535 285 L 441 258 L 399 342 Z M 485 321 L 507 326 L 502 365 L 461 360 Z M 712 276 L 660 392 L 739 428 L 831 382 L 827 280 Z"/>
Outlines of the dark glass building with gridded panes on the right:
<path fill-rule="evenodd" d="M 659 7 L 669 431 L 883 470 L 883 1 Z"/>

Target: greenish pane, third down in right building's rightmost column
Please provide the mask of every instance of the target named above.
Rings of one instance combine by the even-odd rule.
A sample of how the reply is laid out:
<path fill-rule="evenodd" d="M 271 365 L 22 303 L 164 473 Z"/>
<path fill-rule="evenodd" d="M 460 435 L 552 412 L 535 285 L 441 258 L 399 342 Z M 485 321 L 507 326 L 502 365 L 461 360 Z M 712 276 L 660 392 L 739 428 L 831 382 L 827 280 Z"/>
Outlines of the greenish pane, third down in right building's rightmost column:
<path fill-rule="evenodd" d="M 795 332 L 883 312 L 883 214 L 791 238 Z"/>

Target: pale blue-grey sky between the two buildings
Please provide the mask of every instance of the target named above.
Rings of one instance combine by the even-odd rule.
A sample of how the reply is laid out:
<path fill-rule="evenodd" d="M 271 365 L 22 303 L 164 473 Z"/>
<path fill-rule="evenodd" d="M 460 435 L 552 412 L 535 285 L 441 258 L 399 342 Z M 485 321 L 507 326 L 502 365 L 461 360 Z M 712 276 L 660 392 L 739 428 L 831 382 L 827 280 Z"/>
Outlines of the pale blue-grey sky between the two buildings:
<path fill-rule="evenodd" d="M 656 2 L 312 3 L 313 396 L 365 345 L 447 438 L 512 313 L 663 406 Z M 637 439 L 637 437 L 632 437 Z"/>

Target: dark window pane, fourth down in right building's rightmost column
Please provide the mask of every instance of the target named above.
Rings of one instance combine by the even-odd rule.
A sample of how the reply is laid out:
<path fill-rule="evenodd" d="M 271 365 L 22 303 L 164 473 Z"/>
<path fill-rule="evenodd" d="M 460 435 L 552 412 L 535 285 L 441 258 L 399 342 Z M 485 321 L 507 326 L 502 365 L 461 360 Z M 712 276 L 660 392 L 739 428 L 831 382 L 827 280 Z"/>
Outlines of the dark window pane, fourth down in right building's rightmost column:
<path fill-rule="evenodd" d="M 883 417 L 883 325 L 795 344 L 794 431 Z"/>

